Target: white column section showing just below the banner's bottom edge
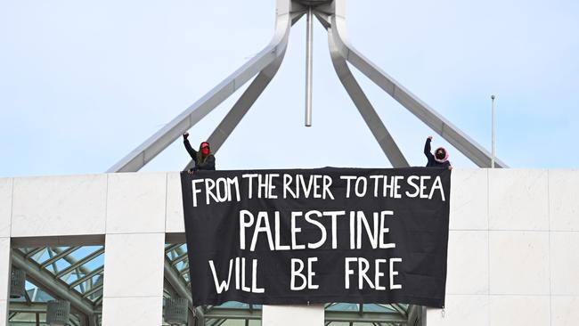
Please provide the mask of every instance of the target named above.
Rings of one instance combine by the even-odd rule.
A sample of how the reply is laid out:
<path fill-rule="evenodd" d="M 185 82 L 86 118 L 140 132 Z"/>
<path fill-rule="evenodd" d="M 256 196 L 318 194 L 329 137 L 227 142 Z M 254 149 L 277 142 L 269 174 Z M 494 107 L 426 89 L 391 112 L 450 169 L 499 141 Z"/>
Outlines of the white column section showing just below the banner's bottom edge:
<path fill-rule="evenodd" d="M 263 306 L 262 326 L 323 326 L 323 305 Z"/>

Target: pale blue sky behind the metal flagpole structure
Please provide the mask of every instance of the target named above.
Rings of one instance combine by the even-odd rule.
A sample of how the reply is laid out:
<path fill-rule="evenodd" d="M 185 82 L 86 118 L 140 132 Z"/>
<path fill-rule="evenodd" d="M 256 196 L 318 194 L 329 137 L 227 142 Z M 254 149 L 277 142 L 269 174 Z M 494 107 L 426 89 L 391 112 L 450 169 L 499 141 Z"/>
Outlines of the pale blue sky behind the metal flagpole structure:
<path fill-rule="evenodd" d="M 0 176 L 105 171 L 267 45 L 274 10 L 273 0 L 0 0 Z M 579 166 L 578 2 L 350 0 L 347 25 L 360 52 L 489 150 L 495 94 L 497 155 L 510 167 Z M 303 126 L 302 19 L 217 168 L 390 167 L 314 27 L 314 126 Z M 356 77 L 411 165 L 424 165 L 433 133 Z M 190 130 L 192 143 L 239 94 Z M 455 167 L 474 167 L 450 151 Z M 177 141 L 143 170 L 188 159 Z"/>

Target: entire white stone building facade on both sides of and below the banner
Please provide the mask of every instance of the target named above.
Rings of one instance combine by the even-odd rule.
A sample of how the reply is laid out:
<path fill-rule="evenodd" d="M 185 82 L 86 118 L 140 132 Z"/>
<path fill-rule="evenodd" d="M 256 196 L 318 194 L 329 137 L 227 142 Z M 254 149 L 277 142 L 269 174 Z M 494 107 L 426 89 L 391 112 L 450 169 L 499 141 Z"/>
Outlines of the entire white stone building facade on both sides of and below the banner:
<path fill-rule="evenodd" d="M 455 168 L 446 307 L 428 326 L 577 324 L 577 184 L 579 170 Z M 166 234 L 183 232 L 178 173 L 0 179 L 0 325 L 11 246 L 82 235 L 105 244 L 103 325 L 159 326 Z M 322 306 L 264 307 L 264 325 L 297 320 L 322 326 Z"/>

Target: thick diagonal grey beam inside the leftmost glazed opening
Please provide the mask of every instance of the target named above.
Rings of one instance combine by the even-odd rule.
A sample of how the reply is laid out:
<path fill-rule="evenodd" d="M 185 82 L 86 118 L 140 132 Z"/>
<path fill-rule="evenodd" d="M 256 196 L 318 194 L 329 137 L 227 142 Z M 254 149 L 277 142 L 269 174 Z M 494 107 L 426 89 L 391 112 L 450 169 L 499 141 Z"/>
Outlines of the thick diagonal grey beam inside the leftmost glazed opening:
<path fill-rule="evenodd" d="M 20 253 L 20 250 L 12 249 L 12 265 L 26 272 L 27 278 L 42 284 L 46 292 L 70 302 L 70 306 L 77 309 L 86 316 L 94 314 L 93 304 L 85 298 L 79 296 L 73 290 L 69 289 L 68 284 L 61 280 L 55 279 L 52 273 L 45 271 L 31 262 Z"/>

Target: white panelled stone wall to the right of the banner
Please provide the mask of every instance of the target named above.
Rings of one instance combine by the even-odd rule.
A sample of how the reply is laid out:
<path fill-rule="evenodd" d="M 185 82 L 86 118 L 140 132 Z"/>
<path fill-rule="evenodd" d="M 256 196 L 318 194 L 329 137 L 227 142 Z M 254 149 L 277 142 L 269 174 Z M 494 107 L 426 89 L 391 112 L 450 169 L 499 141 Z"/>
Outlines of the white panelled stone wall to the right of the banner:
<path fill-rule="evenodd" d="M 431 325 L 579 323 L 579 170 L 455 169 Z"/>

